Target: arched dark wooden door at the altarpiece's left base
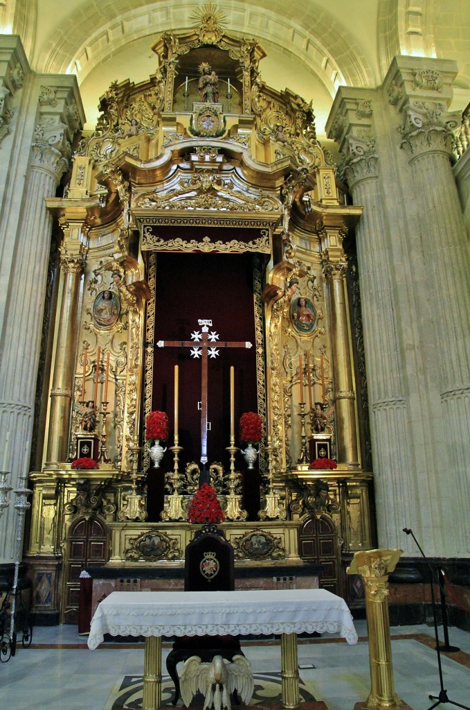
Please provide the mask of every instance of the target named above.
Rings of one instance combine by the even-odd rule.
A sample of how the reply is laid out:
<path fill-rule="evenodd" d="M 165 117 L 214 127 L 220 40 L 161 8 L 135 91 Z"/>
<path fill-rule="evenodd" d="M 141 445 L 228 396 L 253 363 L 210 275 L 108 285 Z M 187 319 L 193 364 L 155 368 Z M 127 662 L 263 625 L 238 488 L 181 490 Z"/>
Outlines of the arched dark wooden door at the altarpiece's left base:
<path fill-rule="evenodd" d="M 89 564 L 108 562 L 108 532 L 98 518 L 80 518 L 70 526 L 65 568 L 63 623 L 79 619 L 80 574 Z"/>

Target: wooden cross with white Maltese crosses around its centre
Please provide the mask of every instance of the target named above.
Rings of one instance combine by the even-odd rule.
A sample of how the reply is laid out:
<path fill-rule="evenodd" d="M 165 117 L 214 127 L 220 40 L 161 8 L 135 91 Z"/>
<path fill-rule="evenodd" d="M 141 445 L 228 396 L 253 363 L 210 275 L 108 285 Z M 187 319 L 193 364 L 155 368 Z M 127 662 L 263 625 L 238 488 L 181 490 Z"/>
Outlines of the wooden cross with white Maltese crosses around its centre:
<path fill-rule="evenodd" d="M 201 464 L 203 464 L 203 469 L 206 470 L 208 359 L 218 356 L 218 348 L 250 348 L 252 344 L 248 341 L 236 342 L 232 340 L 219 342 L 218 333 L 215 331 L 209 333 L 209 327 L 212 327 L 211 320 L 198 320 L 198 324 L 201 327 L 201 332 L 194 331 L 191 333 L 191 340 L 159 340 L 157 346 L 159 348 L 191 348 L 191 357 L 195 359 L 201 358 Z"/>

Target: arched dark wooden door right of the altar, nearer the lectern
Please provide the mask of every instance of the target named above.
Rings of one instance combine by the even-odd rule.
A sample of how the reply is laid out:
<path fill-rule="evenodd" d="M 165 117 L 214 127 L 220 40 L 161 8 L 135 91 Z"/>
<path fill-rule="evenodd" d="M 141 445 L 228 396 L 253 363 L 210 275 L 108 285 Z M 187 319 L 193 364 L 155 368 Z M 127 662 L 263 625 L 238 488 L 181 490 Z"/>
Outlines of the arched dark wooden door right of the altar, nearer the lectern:
<path fill-rule="evenodd" d="M 340 555 L 335 523 L 330 518 L 321 515 L 303 521 L 298 530 L 298 554 L 308 562 L 321 565 L 321 589 L 341 596 Z"/>

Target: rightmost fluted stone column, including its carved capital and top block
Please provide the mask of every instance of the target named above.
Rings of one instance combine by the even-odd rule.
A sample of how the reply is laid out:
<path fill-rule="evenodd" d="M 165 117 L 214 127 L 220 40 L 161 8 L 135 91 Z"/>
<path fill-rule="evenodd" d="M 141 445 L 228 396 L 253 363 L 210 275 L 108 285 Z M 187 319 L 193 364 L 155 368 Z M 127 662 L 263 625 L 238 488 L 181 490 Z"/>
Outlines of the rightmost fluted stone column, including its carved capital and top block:
<path fill-rule="evenodd" d="M 453 537 L 452 554 L 470 553 L 470 256 L 464 216 L 452 175 L 453 136 L 447 113 L 452 97 L 454 62 L 396 58 L 386 78 L 396 97 L 398 141 L 408 158 L 419 228 L 408 234 L 408 249 L 420 258 L 419 310 L 432 313 L 422 337 L 432 363 L 440 402 L 442 442 L 435 447 L 442 476 L 437 478 L 441 549 Z M 432 447 L 433 442 L 430 442 Z M 452 496 L 449 496 L 452 491 Z M 450 521 L 452 520 L 452 525 Z M 457 534 L 456 534 L 456 531 Z M 451 544 L 449 542 L 449 544 Z"/>

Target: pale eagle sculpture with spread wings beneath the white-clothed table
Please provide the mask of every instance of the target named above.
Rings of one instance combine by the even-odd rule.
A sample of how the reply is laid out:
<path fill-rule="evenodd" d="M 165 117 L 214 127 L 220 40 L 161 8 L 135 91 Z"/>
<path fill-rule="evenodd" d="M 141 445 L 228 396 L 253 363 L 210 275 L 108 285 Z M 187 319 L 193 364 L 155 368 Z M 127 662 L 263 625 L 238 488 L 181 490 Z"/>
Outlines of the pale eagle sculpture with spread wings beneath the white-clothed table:
<path fill-rule="evenodd" d="M 230 693 L 237 690 L 240 699 L 248 704 L 253 694 L 253 672 L 245 656 L 236 655 L 232 662 L 214 656 L 210 663 L 202 663 L 199 656 L 191 656 L 181 672 L 181 698 L 186 707 L 197 692 L 204 696 L 203 710 L 230 710 Z"/>

